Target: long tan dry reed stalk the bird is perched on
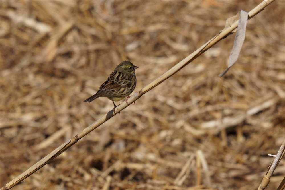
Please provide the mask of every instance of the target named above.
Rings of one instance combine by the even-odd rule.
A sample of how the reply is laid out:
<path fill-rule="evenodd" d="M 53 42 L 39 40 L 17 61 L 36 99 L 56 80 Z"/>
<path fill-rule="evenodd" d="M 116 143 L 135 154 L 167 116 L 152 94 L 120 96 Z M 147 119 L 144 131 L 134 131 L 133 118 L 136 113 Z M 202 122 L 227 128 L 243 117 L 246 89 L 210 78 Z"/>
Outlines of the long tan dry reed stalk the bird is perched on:
<path fill-rule="evenodd" d="M 252 9 L 248 15 L 249 18 L 251 19 L 253 16 L 258 14 L 260 11 L 262 11 L 266 6 L 268 6 L 270 3 L 272 3 L 274 0 L 264 0 L 262 1 L 259 5 L 257 5 L 254 9 Z M 7 183 L 5 186 L 3 186 L 0 190 L 7 190 L 11 189 L 30 175 L 32 175 L 34 172 L 42 168 L 44 165 L 48 164 L 51 160 L 56 158 L 58 155 L 60 155 L 62 152 L 66 151 L 68 148 L 70 148 L 73 144 L 75 144 L 79 139 L 99 127 L 101 124 L 109 120 L 111 117 L 122 111 L 123 109 L 127 108 L 130 104 L 138 100 L 143 94 L 151 90 L 152 88 L 156 87 L 160 83 L 162 83 L 164 80 L 168 79 L 175 73 L 177 73 L 180 69 L 185 67 L 188 63 L 196 59 L 198 56 L 200 56 L 202 53 L 207 51 L 209 48 L 211 48 L 213 45 L 215 45 L 217 42 L 219 42 L 221 39 L 227 37 L 229 34 L 231 34 L 231 31 L 233 31 L 235 28 L 237 28 L 239 20 L 234 22 L 231 26 L 228 28 L 223 29 L 219 34 L 217 34 L 215 37 L 213 37 L 211 40 L 209 40 L 206 44 L 201 46 L 199 49 L 188 55 L 185 59 L 180 61 L 178 64 L 176 64 L 174 67 L 169 69 L 166 73 L 158 77 L 156 80 L 145 86 L 142 90 L 134 94 L 128 99 L 127 102 L 123 102 L 119 106 L 116 107 L 115 113 L 113 110 L 109 111 L 105 115 L 103 115 L 101 118 L 99 118 L 97 121 L 92 123 L 90 126 L 86 127 L 83 131 L 78 133 L 75 137 L 72 139 L 68 140 L 58 148 L 56 148 L 54 151 L 52 151 L 50 154 L 42 158 L 40 161 L 38 161 L 36 164 L 28 168 L 25 172 L 20 174 L 18 177 Z"/>

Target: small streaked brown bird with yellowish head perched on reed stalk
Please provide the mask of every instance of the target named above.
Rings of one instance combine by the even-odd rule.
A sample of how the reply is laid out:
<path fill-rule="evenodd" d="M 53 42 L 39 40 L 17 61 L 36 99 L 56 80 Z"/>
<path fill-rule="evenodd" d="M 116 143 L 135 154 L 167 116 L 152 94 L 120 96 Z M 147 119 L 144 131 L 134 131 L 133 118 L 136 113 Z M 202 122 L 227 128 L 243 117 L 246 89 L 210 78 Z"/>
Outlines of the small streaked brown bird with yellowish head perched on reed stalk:
<path fill-rule="evenodd" d="M 123 98 L 129 99 L 129 96 L 136 87 L 137 79 L 135 69 L 139 67 L 133 65 L 130 61 L 123 61 L 109 75 L 108 79 L 100 86 L 98 92 L 84 102 L 92 102 L 99 97 L 107 97 L 114 104 L 113 111 L 117 107 L 114 103 Z M 126 100 L 126 102 L 127 102 Z"/>

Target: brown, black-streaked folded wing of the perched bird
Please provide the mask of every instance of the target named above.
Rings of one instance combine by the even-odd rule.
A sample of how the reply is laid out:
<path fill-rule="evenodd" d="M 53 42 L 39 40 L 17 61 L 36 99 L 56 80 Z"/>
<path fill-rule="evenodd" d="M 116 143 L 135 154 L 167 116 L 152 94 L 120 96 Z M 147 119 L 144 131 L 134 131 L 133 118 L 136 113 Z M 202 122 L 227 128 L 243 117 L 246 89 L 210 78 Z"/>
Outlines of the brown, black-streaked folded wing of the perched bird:
<path fill-rule="evenodd" d="M 132 75 L 128 73 L 121 73 L 121 72 L 112 72 L 108 79 L 100 86 L 98 92 L 108 92 L 113 90 L 118 90 L 120 88 L 124 88 L 126 86 L 131 86 Z"/>

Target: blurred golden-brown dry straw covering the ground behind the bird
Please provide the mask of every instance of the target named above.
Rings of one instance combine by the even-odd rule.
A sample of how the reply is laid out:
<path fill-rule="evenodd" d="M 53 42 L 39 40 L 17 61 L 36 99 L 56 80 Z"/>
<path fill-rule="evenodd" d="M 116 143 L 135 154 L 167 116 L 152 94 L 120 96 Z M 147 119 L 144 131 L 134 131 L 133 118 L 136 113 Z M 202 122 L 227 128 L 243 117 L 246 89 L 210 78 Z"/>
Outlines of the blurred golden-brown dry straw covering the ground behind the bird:
<path fill-rule="evenodd" d="M 113 108 L 83 100 L 121 61 L 137 92 L 260 2 L 1 1 L 0 186 Z M 284 141 L 284 9 L 223 78 L 235 34 L 13 189 L 257 189 Z M 284 158 L 266 189 L 283 177 Z"/>

